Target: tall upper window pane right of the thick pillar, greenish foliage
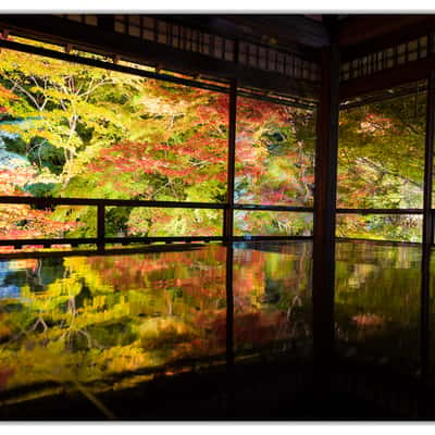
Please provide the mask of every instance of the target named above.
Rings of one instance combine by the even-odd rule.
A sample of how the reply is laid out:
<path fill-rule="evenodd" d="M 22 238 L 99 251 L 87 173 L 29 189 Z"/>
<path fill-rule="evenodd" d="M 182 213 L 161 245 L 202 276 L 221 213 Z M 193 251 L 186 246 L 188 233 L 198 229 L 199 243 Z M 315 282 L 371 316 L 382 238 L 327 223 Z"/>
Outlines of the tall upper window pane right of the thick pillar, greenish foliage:
<path fill-rule="evenodd" d="M 340 112 L 338 207 L 423 207 L 425 101 L 419 91 Z"/>

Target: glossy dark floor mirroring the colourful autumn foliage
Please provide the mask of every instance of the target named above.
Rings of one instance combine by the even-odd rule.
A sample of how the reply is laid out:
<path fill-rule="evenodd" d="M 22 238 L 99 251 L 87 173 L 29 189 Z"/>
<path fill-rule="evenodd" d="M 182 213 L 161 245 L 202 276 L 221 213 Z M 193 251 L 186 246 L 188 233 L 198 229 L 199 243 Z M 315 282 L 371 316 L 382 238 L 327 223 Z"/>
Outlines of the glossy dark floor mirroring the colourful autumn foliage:
<path fill-rule="evenodd" d="M 337 243 L 327 368 L 311 256 L 299 240 L 1 259 L 0 418 L 435 418 L 421 248 Z"/>

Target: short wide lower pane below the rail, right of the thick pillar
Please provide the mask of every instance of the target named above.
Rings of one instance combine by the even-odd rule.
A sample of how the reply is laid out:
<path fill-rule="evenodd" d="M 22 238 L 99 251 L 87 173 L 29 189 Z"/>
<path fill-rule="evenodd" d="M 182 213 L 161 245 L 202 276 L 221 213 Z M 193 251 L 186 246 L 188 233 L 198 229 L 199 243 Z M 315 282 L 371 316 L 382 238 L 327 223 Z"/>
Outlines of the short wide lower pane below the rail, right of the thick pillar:
<path fill-rule="evenodd" d="M 336 236 L 372 240 L 421 241 L 423 217 L 417 214 L 337 214 Z"/>

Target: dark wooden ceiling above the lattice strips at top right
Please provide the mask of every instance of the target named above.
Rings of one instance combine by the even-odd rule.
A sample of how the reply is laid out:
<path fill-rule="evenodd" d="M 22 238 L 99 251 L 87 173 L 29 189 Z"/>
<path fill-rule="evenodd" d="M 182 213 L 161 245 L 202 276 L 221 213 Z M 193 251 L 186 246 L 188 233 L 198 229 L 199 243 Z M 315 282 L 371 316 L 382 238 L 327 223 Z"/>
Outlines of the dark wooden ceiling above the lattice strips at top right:
<path fill-rule="evenodd" d="M 336 42 L 341 59 L 363 55 L 435 30 L 435 14 L 159 15 L 202 30 L 261 42 L 309 59 Z"/>

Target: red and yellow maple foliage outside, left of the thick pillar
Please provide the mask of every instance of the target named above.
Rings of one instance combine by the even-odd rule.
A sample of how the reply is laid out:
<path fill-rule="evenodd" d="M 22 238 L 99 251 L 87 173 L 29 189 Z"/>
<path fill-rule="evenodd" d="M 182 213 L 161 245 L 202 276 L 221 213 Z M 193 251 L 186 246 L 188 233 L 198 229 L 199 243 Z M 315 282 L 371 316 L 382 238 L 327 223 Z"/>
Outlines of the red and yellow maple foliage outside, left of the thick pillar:
<path fill-rule="evenodd" d="M 0 85 L 3 152 L 32 167 L 13 183 L 23 195 L 226 200 L 227 95 L 10 50 Z M 240 97 L 237 119 L 235 200 L 311 206 L 312 111 Z M 263 214 L 241 213 L 237 231 L 310 231 L 304 217 Z M 92 208 L 51 217 L 79 221 L 65 227 L 71 235 L 96 235 Z M 221 226 L 213 210 L 107 210 L 108 235 L 219 235 Z"/>

